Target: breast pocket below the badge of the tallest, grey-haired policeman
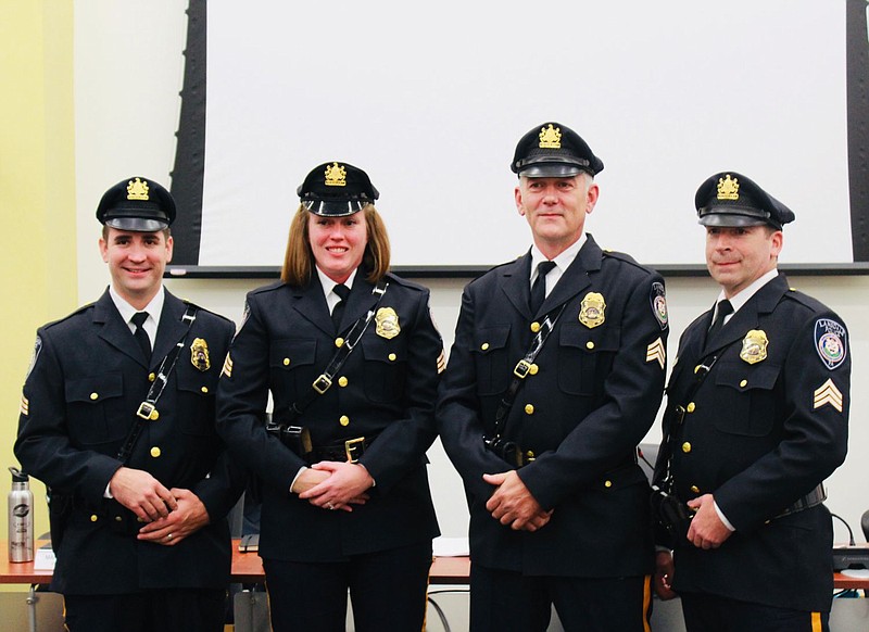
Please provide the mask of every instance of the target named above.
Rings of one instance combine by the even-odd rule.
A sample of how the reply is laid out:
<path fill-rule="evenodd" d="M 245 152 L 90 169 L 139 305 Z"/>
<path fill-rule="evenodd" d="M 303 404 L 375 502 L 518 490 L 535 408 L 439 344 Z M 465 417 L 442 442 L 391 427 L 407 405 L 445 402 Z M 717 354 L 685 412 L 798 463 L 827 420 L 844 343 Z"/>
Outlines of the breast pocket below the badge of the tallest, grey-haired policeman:
<path fill-rule="evenodd" d="M 621 329 L 565 323 L 558 332 L 558 387 L 570 395 L 593 395 L 595 378 L 608 374 L 618 351 Z M 603 383 L 603 381 L 601 382 Z"/>

